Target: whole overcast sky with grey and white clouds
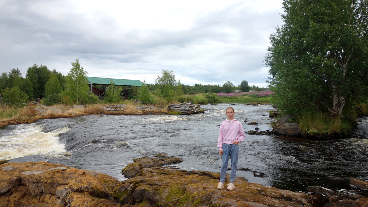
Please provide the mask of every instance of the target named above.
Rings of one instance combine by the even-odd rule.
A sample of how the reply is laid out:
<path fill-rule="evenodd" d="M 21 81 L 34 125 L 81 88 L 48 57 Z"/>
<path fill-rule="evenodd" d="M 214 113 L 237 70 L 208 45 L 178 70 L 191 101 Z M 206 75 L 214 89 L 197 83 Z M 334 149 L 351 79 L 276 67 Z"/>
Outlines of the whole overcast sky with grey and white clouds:
<path fill-rule="evenodd" d="M 281 0 L 0 0 L 0 73 L 33 64 L 67 75 L 266 87 Z"/>

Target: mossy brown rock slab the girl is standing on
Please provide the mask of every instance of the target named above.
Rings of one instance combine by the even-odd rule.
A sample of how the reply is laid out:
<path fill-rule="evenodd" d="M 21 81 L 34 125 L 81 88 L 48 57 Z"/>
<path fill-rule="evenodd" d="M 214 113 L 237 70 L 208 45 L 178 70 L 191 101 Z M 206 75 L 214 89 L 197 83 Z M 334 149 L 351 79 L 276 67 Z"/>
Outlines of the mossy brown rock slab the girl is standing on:
<path fill-rule="evenodd" d="M 188 172 L 156 166 L 138 169 L 137 165 L 143 166 L 139 163 L 141 161 L 155 165 L 166 161 L 144 157 L 135 159 L 134 164 L 123 170 L 123 174 L 130 172 L 137 175 L 128 181 L 138 185 L 138 192 L 132 194 L 133 199 L 140 202 L 139 199 L 146 196 L 152 206 L 304 206 L 311 203 L 310 195 L 249 183 L 239 177 L 235 180 L 234 190 L 218 190 L 219 173 Z M 167 203 L 164 204 L 164 201 Z"/>

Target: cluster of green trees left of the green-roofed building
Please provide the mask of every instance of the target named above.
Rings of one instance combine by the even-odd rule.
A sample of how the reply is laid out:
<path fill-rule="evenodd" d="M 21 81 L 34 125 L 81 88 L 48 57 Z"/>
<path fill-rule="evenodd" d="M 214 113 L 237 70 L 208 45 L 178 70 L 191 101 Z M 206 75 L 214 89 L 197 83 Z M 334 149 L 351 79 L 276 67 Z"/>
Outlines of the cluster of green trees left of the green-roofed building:
<path fill-rule="evenodd" d="M 10 73 L 0 75 L 2 102 L 17 106 L 27 101 L 41 98 L 42 103 L 93 103 L 98 97 L 88 94 L 87 72 L 79 64 L 79 59 L 72 62 L 67 76 L 47 66 L 34 64 L 26 71 L 25 78 L 20 70 L 12 69 Z"/>

